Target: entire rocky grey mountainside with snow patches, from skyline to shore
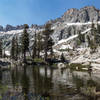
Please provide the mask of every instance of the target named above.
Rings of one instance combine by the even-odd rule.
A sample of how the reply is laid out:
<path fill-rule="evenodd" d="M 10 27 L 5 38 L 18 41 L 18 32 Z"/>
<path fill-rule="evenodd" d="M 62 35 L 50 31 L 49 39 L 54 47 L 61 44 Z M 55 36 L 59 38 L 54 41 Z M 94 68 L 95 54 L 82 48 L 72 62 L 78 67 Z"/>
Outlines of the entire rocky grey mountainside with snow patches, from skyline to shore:
<path fill-rule="evenodd" d="M 100 69 L 100 46 L 97 47 L 96 52 L 91 54 L 91 50 L 88 44 L 87 36 L 90 39 L 93 38 L 91 34 L 91 26 L 94 24 L 97 28 L 97 24 L 100 25 L 100 10 L 93 6 L 87 6 L 81 9 L 72 8 L 64 13 L 64 15 L 55 20 L 50 20 L 47 23 L 51 23 L 52 29 L 54 29 L 51 37 L 55 42 L 53 51 L 58 58 L 64 53 L 66 59 L 71 63 L 89 64 L 92 62 L 92 66 Z M 9 53 L 11 47 L 11 40 L 13 36 L 21 37 L 23 33 L 23 25 L 13 27 L 8 25 L 6 28 L 0 26 L 0 39 L 3 40 L 5 52 Z M 30 36 L 30 48 L 32 46 L 35 33 L 44 30 L 43 26 L 32 25 L 28 29 Z M 77 46 L 77 40 L 79 32 L 84 35 L 84 43 Z M 99 67 L 98 67 L 99 66 Z"/>

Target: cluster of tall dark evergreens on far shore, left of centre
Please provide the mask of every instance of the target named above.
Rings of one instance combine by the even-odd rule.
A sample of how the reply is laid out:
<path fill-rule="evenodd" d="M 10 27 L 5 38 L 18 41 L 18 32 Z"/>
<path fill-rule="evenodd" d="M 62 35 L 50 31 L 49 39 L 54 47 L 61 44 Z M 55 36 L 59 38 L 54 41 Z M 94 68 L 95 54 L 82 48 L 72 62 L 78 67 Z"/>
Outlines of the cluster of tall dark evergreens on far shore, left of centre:
<path fill-rule="evenodd" d="M 18 39 L 17 36 L 14 36 L 11 43 L 11 59 L 18 60 L 23 59 L 24 62 L 27 61 L 27 56 L 32 59 L 41 58 L 41 53 L 44 54 L 44 60 L 46 61 L 48 58 L 53 57 L 53 49 L 54 45 L 53 39 L 51 38 L 51 34 L 53 30 L 51 29 L 51 24 L 46 24 L 45 29 L 38 34 L 35 33 L 34 41 L 32 45 L 32 49 L 30 50 L 30 39 L 28 33 L 29 26 L 27 24 L 24 25 L 23 34 Z M 20 43 L 19 43 L 20 41 Z"/>

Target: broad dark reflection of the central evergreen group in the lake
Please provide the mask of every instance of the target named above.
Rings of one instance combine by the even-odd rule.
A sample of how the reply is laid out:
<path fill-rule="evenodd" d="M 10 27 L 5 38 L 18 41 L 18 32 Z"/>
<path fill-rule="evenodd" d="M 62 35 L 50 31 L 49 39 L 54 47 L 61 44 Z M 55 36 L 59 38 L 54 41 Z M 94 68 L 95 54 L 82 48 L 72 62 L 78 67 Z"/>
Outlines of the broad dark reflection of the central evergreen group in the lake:
<path fill-rule="evenodd" d="M 49 96 L 52 88 L 53 70 L 50 69 L 50 77 L 47 77 L 47 67 L 44 67 L 45 75 L 40 74 L 39 67 L 33 67 L 34 90 L 36 95 Z"/>

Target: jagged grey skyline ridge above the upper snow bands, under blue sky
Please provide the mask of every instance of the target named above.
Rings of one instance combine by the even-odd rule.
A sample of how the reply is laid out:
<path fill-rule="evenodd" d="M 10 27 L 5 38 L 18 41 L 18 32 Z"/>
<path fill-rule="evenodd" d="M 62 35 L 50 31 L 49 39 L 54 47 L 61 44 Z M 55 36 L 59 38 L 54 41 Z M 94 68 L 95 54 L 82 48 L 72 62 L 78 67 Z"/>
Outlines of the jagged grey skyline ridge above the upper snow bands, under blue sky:
<path fill-rule="evenodd" d="M 57 18 L 55 20 L 50 20 L 47 23 L 51 23 L 53 26 L 55 24 L 62 24 L 64 22 L 66 23 L 86 23 L 86 22 L 92 22 L 92 21 L 100 21 L 100 10 L 96 9 L 94 6 L 86 6 L 81 9 L 72 8 L 67 10 L 64 15 L 60 18 Z M 39 25 L 31 25 L 32 28 L 43 28 L 43 26 Z M 0 25 L 0 31 L 11 31 L 11 30 L 19 30 L 23 29 L 24 25 L 6 25 L 4 28 Z"/>

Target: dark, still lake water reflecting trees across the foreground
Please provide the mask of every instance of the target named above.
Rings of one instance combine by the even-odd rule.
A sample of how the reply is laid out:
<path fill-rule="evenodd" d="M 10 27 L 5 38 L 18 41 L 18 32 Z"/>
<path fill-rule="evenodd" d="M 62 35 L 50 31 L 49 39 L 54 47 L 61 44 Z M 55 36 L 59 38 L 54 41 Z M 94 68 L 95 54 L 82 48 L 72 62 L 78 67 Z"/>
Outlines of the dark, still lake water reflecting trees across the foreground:
<path fill-rule="evenodd" d="M 100 73 L 53 69 L 50 66 L 16 66 L 0 72 L 0 100 L 100 100 L 82 89 L 100 91 Z"/>

